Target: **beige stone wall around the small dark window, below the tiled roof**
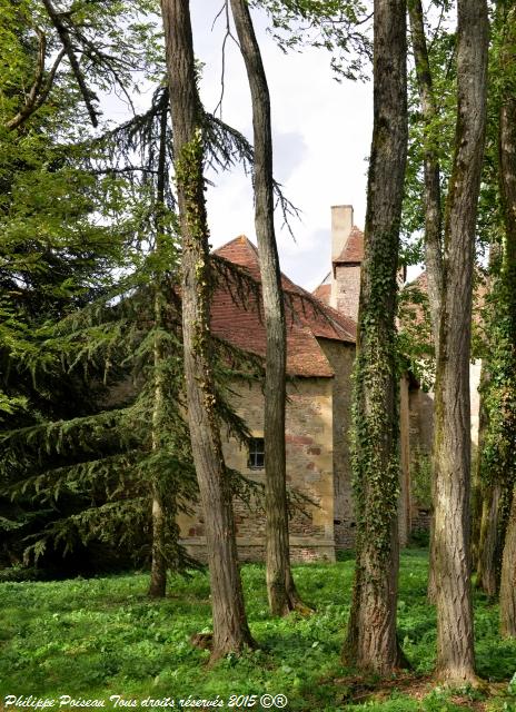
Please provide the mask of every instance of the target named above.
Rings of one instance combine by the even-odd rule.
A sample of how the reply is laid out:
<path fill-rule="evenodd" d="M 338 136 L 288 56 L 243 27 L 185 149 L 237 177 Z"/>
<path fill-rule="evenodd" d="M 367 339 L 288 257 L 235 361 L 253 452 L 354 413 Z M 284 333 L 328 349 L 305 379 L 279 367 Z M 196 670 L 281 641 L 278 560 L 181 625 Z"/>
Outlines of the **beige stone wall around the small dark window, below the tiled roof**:
<path fill-rule="evenodd" d="M 264 436 L 264 396 L 259 385 L 236 383 L 234 407 L 252 437 Z M 286 413 L 287 485 L 308 497 L 290 520 L 294 561 L 335 561 L 333 476 L 333 378 L 298 378 L 288 385 Z M 224 437 L 224 433 L 222 433 Z M 265 471 L 249 469 L 248 449 L 235 438 L 224 441 L 228 466 L 264 484 Z M 250 506 L 235 501 L 237 544 L 241 561 L 265 557 L 265 516 L 259 497 Z M 206 557 L 202 515 L 180 515 L 182 543 L 196 557 Z"/>

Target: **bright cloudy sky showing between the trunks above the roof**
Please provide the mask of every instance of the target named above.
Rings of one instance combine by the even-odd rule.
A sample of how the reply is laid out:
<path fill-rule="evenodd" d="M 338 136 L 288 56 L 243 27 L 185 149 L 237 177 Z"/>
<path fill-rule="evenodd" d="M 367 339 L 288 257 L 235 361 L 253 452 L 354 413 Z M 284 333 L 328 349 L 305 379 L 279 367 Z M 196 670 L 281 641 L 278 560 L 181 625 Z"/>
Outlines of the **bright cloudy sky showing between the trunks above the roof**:
<path fill-rule="evenodd" d="M 219 7 L 191 2 L 195 51 L 205 63 L 201 98 L 209 111 L 220 98 L 224 22 L 211 30 Z M 351 204 L 355 224 L 364 227 L 373 83 L 335 81 L 326 50 L 285 55 L 266 32 L 265 14 L 254 11 L 252 17 L 271 97 L 275 176 L 302 211 L 301 220 L 292 222 L 296 241 L 277 221 L 281 269 L 312 289 L 330 267 L 330 206 Z M 232 41 L 227 42 L 225 86 L 222 118 L 251 139 L 247 77 Z M 241 234 L 256 243 L 250 178 L 238 170 L 210 179 L 216 184 L 208 189 L 214 247 Z"/>

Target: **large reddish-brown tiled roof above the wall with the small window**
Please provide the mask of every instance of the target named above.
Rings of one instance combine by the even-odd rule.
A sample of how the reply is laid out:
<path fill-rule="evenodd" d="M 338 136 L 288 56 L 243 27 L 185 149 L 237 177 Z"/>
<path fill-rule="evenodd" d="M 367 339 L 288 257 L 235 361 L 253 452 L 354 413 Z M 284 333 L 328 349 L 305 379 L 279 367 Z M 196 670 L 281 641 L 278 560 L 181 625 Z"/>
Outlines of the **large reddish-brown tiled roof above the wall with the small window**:
<path fill-rule="evenodd" d="M 258 251 L 247 237 L 240 236 L 215 250 L 260 283 Z M 355 343 L 356 324 L 324 305 L 288 277 L 281 275 L 287 315 L 287 370 L 298 376 L 329 377 L 334 372 L 317 337 L 348 344 Z M 220 286 L 211 307 L 211 329 L 217 336 L 259 356 L 266 353 L 266 333 L 261 298 L 249 291 L 244 306 Z"/>

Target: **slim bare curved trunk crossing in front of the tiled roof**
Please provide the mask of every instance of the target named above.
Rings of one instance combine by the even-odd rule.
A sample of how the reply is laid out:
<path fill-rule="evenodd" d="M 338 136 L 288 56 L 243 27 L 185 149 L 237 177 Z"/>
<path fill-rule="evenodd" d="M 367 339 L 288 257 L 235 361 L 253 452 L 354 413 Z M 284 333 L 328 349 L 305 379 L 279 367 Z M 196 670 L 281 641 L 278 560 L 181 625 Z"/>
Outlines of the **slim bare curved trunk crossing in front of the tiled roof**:
<path fill-rule="evenodd" d="M 281 274 L 274 226 L 270 97 L 247 0 L 231 0 L 252 100 L 255 226 L 267 334 L 265 377 L 265 472 L 267 593 L 272 615 L 298 603 L 290 570 L 285 458 L 287 337 Z"/>

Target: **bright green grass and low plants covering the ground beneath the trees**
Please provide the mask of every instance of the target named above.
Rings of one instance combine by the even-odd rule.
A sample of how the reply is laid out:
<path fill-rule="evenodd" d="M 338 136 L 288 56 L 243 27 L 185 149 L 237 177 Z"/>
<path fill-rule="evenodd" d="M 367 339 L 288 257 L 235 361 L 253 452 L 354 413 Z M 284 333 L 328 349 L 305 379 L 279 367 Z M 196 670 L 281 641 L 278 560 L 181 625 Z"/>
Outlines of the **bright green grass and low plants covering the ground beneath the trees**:
<path fill-rule="evenodd" d="M 497 605 L 482 595 L 475 602 L 476 651 L 486 685 L 452 694 L 431 684 L 435 611 L 425 600 L 426 570 L 426 552 L 403 554 L 399 633 L 414 671 L 388 681 L 356 679 L 339 661 L 351 561 L 296 566 L 300 593 L 317 612 L 280 621 L 268 614 L 262 566 L 244 566 L 249 623 L 261 647 L 211 669 L 206 664 L 208 652 L 190 644 L 192 634 L 209 631 L 205 574 L 196 573 L 190 581 L 173 577 L 170 594 L 158 603 L 146 597 L 145 574 L 2 583 L 0 710 L 2 704 L 4 710 L 42 709 L 46 700 L 47 709 L 61 710 L 85 709 L 78 706 L 81 700 L 100 700 L 107 710 L 129 704 L 171 709 L 172 700 L 176 709 L 207 709 L 181 705 L 189 695 L 190 702 L 224 704 L 209 709 L 231 709 L 230 695 L 258 695 L 254 709 L 261 710 L 261 695 L 284 694 L 287 710 L 516 712 L 516 682 L 508 684 L 516 670 L 516 642 L 499 637 Z M 7 695 L 23 699 L 14 703 Z M 118 704 L 110 695 L 121 695 Z M 234 709 L 248 709 L 252 699 L 234 702 L 240 705 Z M 269 702 L 266 698 L 266 705 Z"/>

